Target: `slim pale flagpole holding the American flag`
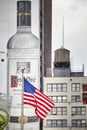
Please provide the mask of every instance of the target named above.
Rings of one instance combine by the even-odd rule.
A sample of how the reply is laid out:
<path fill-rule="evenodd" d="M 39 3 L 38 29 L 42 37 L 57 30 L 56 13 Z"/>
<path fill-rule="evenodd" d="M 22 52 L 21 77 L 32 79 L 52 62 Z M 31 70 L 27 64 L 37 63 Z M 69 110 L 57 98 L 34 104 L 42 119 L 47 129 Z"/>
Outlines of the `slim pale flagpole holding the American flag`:
<path fill-rule="evenodd" d="M 24 117 L 24 104 L 23 104 L 23 91 L 24 91 L 24 68 L 21 69 L 22 72 L 22 92 L 21 92 L 21 130 L 24 130 L 24 122 L 23 122 L 23 117 Z"/>

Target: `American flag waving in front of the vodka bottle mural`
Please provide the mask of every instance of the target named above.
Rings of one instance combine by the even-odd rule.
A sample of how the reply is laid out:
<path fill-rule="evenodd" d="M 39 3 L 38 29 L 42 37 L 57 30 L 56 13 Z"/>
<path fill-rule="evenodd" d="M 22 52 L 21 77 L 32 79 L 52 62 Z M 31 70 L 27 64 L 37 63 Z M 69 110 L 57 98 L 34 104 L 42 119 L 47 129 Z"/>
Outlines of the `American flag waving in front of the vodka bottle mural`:
<path fill-rule="evenodd" d="M 24 78 L 24 104 L 35 107 L 35 113 L 38 118 L 43 120 L 54 107 L 54 103 L 49 97 L 40 92 L 27 79 Z"/>

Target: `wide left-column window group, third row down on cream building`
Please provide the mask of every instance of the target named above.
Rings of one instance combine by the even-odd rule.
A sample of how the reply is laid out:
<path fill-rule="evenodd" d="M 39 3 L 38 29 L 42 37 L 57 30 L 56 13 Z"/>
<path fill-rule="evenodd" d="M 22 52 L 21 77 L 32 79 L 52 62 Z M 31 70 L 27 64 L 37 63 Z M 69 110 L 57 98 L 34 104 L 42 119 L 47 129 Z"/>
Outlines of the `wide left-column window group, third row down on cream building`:
<path fill-rule="evenodd" d="M 67 115 L 67 107 L 54 107 L 51 109 L 52 115 Z"/>

